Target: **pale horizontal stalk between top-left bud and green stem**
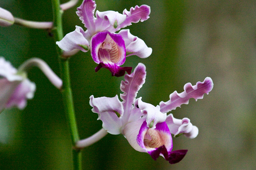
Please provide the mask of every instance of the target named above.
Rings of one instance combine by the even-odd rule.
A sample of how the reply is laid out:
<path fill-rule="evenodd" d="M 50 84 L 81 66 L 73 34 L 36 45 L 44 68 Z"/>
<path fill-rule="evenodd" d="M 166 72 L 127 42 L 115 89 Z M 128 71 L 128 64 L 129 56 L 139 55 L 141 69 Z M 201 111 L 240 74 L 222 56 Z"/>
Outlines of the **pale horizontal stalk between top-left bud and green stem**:
<path fill-rule="evenodd" d="M 28 21 L 21 18 L 14 17 L 14 24 L 20 26 L 27 26 L 29 28 L 38 28 L 38 29 L 51 29 L 53 22 L 38 22 L 38 21 Z"/>

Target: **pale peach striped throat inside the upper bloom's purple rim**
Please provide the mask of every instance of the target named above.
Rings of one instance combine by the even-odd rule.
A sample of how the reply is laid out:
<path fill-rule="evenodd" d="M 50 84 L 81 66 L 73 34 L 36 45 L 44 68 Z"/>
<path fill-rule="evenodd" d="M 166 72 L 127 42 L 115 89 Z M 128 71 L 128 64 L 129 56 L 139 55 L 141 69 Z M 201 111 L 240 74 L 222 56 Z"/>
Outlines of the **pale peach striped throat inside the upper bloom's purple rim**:
<path fill-rule="evenodd" d="M 121 58 L 119 48 L 116 42 L 110 37 L 109 34 L 107 34 L 106 39 L 101 44 L 101 48 L 106 50 L 106 52 L 109 54 L 108 56 L 105 55 L 105 60 L 110 60 L 112 63 L 119 62 Z M 101 60 L 104 61 L 104 58 L 101 58 Z"/>

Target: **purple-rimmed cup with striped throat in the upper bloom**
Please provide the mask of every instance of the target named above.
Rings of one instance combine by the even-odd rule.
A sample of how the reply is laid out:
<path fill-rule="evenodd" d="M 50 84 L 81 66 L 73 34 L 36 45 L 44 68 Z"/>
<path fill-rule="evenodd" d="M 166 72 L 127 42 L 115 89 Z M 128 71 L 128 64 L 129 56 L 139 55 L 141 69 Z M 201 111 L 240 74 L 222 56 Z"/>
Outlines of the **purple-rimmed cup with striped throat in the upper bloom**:
<path fill-rule="evenodd" d="M 95 63 L 122 65 L 125 62 L 125 45 L 121 35 L 100 32 L 92 37 L 91 54 Z"/>

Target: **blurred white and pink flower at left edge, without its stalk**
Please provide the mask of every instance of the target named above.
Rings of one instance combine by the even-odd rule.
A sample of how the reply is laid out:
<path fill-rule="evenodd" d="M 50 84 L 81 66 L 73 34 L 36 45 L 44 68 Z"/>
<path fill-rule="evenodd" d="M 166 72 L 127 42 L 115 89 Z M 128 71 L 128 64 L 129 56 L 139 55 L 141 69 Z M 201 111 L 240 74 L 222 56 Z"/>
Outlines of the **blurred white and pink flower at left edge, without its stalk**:
<path fill-rule="evenodd" d="M 4 108 L 16 106 L 23 109 L 27 99 L 34 97 L 36 84 L 31 82 L 26 73 L 18 74 L 11 63 L 0 57 L 0 112 Z"/>

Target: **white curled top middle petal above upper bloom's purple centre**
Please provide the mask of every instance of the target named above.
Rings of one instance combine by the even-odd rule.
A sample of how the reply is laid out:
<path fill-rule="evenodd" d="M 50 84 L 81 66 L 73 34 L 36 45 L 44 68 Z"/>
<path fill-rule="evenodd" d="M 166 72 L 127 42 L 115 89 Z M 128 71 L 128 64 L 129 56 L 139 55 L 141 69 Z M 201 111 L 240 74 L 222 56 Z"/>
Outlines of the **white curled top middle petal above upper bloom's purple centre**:
<path fill-rule="evenodd" d="M 98 30 L 98 31 L 108 30 L 108 28 L 105 26 L 107 26 L 109 24 L 111 26 L 111 29 L 116 28 L 117 26 L 120 26 L 120 24 L 122 24 L 124 22 L 124 20 L 126 19 L 126 15 L 120 14 L 115 11 L 104 11 L 104 12 L 96 11 L 96 17 L 97 17 L 97 20 L 99 18 L 105 20 L 105 22 L 104 22 L 99 19 L 98 22 L 97 21 L 95 22 L 95 23 L 97 23 L 96 30 Z M 101 23 L 101 24 L 99 24 L 99 23 Z M 98 26 L 102 26 L 101 29 Z M 111 33 L 114 33 L 114 32 L 111 32 Z"/>

